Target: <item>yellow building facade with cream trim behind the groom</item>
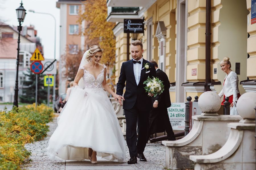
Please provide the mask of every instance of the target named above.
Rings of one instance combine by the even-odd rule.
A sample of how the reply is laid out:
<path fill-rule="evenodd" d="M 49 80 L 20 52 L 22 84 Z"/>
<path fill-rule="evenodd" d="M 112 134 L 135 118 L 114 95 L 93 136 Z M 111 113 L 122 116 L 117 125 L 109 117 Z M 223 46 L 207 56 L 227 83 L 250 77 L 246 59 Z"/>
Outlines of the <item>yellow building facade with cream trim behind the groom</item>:
<path fill-rule="evenodd" d="M 107 6 L 113 7 L 118 2 L 108 0 Z M 138 0 L 134 3 L 140 7 L 137 18 L 145 20 L 144 35 L 137 37 L 143 43 L 143 58 L 157 61 L 169 77 L 171 102 L 200 96 L 206 79 L 206 1 L 149 0 L 143 5 Z M 124 1 L 121 4 L 126 5 Z M 251 24 L 251 0 L 212 0 L 210 13 L 210 89 L 221 91 L 226 73 L 222 72 L 220 61 L 229 57 L 231 69 L 239 78 L 240 94 L 256 92 L 256 24 Z M 118 20 L 111 15 L 110 12 L 109 22 L 116 22 L 113 32 L 116 35 L 117 83 L 122 62 L 128 59 L 127 44 L 134 36 L 124 33 L 123 19 L 136 17 L 121 15 L 122 20 Z"/>

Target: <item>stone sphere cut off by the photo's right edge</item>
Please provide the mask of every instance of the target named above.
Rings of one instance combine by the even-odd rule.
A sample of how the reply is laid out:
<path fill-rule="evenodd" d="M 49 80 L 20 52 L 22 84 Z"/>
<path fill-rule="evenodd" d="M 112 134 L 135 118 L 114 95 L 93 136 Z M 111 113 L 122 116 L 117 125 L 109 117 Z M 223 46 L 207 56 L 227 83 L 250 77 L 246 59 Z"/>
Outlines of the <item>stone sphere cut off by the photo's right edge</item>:
<path fill-rule="evenodd" d="M 237 112 L 243 119 L 255 119 L 256 93 L 247 92 L 237 100 Z"/>

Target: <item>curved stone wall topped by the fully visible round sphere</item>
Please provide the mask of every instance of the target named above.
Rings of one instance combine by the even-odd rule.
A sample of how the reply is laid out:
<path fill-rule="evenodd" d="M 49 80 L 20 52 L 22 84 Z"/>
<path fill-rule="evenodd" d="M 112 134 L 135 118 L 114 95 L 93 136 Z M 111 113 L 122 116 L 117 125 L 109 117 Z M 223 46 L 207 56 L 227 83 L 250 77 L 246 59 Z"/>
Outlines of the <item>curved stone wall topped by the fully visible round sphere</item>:
<path fill-rule="evenodd" d="M 198 99 L 201 115 L 192 116 L 194 124 L 188 135 L 177 141 L 162 141 L 166 146 L 165 167 L 169 169 L 193 169 L 190 155 L 216 152 L 227 141 L 228 123 L 239 122 L 239 115 L 218 115 L 221 100 L 215 92 L 204 92 Z M 215 140 L 218 139 L 218 140 Z"/>

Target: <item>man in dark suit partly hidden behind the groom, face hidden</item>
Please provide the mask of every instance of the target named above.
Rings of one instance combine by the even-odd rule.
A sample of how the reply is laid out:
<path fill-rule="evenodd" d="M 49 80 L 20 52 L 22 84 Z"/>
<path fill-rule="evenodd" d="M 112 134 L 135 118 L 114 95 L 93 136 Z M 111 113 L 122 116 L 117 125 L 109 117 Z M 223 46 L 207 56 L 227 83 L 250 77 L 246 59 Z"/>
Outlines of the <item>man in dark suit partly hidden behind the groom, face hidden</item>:
<path fill-rule="evenodd" d="M 162 94 L 152 98 L 153 109 L 149 115 L 149 134 L 161 133 L 166 131 L 169 141 L 175 141 L 175 136 L 169 120 L 167 108 L 171 106 L 169 94 L 170 82 L 168 76 L 158 68 L 155 61 L 150 61 L 156 69 L 156 76 L 163 81 L 164 91 Z"/>

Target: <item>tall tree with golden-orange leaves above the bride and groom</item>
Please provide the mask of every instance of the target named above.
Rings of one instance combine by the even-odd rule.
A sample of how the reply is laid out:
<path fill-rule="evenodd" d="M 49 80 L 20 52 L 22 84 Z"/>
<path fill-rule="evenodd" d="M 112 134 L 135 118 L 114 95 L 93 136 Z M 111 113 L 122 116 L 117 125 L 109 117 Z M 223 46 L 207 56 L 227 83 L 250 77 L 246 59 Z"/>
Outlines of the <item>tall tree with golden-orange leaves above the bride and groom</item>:
<path fill-rule="evenodd" d="M 112 67 L 115 62 L 116 42 L 112 31 L 115 24 L 106 21 L 106 0 L 87 0 L 84 6 L 85 9 L 79 12 L 78 22 L 81 24 L 85 20 L 87 27 L 81 31 L 81 34 L 87 38 L 87 44 L 99 44 L 103 49 L 103 63 Z"/>

